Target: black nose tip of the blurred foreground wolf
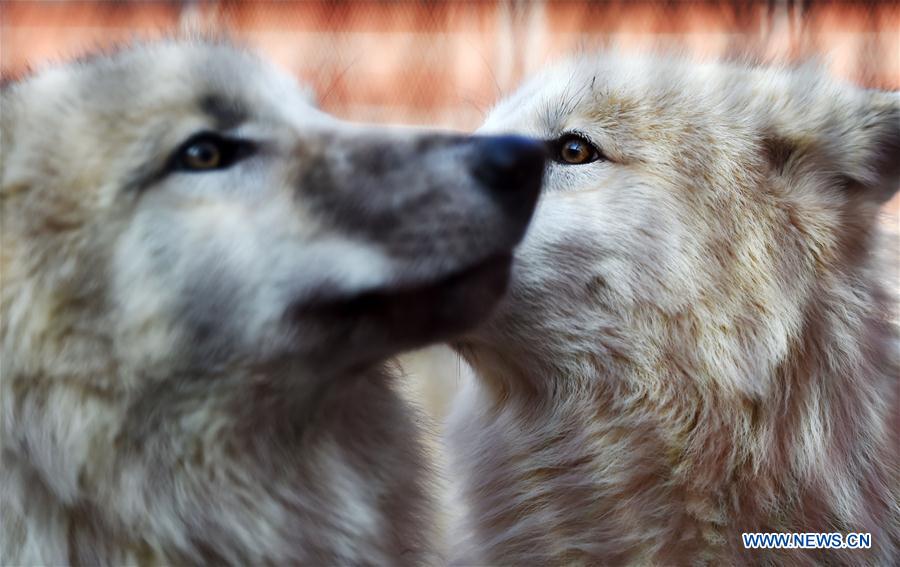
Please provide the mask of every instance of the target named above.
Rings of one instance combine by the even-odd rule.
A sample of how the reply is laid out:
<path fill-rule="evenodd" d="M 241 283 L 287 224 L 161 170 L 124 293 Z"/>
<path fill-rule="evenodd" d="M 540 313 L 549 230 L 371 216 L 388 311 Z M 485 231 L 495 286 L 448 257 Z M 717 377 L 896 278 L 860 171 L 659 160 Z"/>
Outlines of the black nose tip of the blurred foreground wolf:
<path fill-rule="evenodd" d="M 522 136 L 476 138 L 473 173 L 504 206 L 530 207 L 544 177 L 547 149 Z"/>

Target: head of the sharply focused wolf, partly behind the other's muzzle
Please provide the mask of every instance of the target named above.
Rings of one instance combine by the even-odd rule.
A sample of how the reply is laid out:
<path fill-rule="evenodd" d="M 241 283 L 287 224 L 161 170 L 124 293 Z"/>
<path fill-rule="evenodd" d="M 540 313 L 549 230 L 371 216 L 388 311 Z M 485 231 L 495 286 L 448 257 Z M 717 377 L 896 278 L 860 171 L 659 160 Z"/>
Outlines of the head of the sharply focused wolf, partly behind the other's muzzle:
<path fill-rule="evenodd" d="M 900 173 L 897 96 L 812 66 L 580 59 L 481 131 L 550 140 L 553 158 L 476 343 L 649 368 L 688 356 L 698 380 L 744 391 L 766 388 L 823 288 L 867 269 Z"/>

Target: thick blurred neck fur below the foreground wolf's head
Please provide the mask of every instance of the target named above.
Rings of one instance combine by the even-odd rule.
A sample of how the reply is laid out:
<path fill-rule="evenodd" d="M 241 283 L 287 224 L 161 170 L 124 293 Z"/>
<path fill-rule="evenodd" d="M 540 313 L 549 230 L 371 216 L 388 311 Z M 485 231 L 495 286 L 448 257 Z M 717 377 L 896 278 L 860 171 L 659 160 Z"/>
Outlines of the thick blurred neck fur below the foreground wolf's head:
<path fill-rule="evenodd" d="M 428 560 L 427 475 L 389 373 L 341 379 L 314 414 L 292 411 L 290 392 L 277 386 L 284 378 L 198 378 L 218 380 L 212 389 L 160 382 L 123 417 L 112 393 L 73 380 L 41 388 L 30 377 L 29 395 L 4 411 L 25 431 L 29 416 L 39 420 L 51 406 L 69 423 L 46 427 L 44 414 L 36 427 L 46 428 L 36 430 L 50 437 L 4 439 L 3 563 Z M 67 431 L 91 441 L 63 449 Z M 71 460 L 59 460 L 60 450 Z"/>

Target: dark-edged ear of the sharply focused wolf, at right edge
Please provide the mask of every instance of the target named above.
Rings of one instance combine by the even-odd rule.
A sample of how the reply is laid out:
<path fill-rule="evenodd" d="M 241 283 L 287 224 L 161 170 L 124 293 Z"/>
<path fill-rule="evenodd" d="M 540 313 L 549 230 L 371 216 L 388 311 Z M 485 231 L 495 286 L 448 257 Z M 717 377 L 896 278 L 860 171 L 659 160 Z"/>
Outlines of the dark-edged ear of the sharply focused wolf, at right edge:
<path fill-rule="evenodd" d="M 848 190 L 884 203 L 900 188 L 900 92 L 864 97 L 843 136 L 842 172 Z"/>

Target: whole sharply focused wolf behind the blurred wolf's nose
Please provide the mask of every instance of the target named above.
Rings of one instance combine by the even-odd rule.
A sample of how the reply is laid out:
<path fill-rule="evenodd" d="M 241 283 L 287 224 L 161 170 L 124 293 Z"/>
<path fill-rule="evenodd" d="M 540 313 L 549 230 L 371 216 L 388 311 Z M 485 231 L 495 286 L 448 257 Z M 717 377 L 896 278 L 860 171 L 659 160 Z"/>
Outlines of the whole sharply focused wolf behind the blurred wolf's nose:
<path fill-rule="evenodd" d="M 507 298 L 456 342 L 471 563 L 900 556 L 897 93 L 814 63 L 576 58 L 482 132 L 550 140 Z M 895 258 L 895 257 L 894 257 Z M 871 549 L 745 550 L 743 532 Z"/>

